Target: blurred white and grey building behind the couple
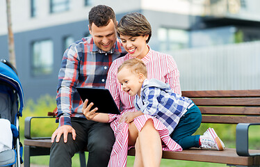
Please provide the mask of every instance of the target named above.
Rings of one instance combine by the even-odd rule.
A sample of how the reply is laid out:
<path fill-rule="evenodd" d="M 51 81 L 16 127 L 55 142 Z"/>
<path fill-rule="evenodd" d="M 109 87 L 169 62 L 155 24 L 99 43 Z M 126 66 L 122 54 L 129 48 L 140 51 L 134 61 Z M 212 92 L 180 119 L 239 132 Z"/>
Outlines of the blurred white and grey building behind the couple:
<path fill-rule="evenodd" d="M 149 46 L 157 51 L 260 39 L 257 0 L 12 1 L 17 71 L 26 99 L 56 95 L 63 52 L 89 35 L 88 12 L 99 4 L 111 6 L 117 20 L 126 13 L 143 13 L 152 25 Z M 5 1 L 0 1 L 0 15 L 0 58 L 8 60 Z"/>

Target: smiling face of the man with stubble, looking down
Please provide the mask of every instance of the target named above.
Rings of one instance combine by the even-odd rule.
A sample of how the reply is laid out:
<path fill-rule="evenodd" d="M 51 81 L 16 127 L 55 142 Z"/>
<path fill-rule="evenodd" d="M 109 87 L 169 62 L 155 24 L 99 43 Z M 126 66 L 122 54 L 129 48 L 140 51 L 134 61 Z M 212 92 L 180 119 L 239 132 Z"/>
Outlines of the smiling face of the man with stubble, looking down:
<path fill-rule="evenodd" d="M 90 28 L 90 27 L 89 27 Z M 90 34 L 95 42 L 95 45 L 103 51 L 109 51 L 115 44 L 117 39 L 115 24 L 111 19 L 106 26 L 96 26 L 92 23 Z"/>

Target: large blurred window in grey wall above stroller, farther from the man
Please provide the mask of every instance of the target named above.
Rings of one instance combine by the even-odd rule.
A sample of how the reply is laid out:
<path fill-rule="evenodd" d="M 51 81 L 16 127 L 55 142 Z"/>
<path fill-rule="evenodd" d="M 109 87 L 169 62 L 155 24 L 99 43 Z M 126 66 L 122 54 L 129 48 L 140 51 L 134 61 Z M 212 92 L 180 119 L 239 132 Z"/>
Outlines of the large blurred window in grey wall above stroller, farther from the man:
<path fill-rule="evenodd" d="M 33 42 L 31 61 L 33 76 L 51 74 L 54 70 L 54 44 L 52 40 Z"/>

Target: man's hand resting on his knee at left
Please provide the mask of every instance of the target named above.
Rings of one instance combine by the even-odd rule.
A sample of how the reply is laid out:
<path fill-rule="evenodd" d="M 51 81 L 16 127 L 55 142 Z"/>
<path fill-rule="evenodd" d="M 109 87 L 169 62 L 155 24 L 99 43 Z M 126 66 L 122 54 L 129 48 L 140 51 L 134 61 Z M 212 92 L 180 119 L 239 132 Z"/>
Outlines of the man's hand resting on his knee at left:
<path fill-rule="evenodd" d="M 73 140 L 76 139 L 76 132 L 70 125 L 63 125 L 58 127 L 56 131 L 51 135 L 51 143 L 54 143 L 54 138 L 56 137 L 56 143 L 60 141 L 60 136 L 63 134 L 64 143 L 67 143 L 67 134 L 71 133 Z"/>

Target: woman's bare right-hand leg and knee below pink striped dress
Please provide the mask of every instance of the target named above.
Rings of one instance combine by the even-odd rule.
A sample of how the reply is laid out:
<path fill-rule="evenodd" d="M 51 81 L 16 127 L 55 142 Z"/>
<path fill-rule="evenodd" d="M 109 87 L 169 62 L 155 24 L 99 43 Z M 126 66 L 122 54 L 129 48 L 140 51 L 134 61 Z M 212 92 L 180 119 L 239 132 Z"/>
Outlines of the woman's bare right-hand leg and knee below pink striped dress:
<path fill-rule="evenodd" d="M 159 132 L 152 119 L 147 120 L 138 136 L 144 166 L 160 166 L 163 154 Z"/>

